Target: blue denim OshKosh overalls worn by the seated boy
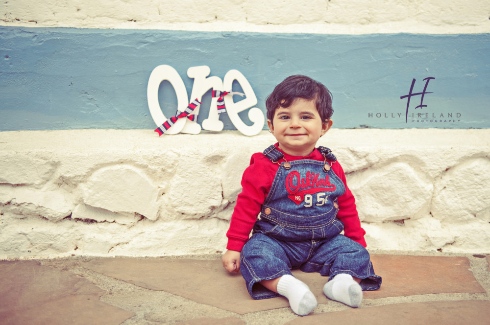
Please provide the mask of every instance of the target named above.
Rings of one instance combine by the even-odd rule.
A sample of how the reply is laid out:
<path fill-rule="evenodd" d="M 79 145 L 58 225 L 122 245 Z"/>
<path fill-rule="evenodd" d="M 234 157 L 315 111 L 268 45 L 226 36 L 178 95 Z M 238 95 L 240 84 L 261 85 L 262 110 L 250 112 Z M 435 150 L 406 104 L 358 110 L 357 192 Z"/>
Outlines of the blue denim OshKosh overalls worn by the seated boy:
<path fill-rule="evenodd" d="M 254 284 L 291 274 L 295 268 L 319 272 L 329 279 L 347 273 L 363 279 L 363 290 L 376 290 L 381 285 L 368 251 L 340 234 L 343 223 L 336 218 L 337 198 L 345 193 L 345 186 L 330 167 L 336 161 L 330 149 L 318 149 L 324 162 L 280 162 L 284 155 L 275 146 L 264 151 L 280 166 L 252 237 L 242 249 L 240 269 L 254 299 L 279 296 Z"/>

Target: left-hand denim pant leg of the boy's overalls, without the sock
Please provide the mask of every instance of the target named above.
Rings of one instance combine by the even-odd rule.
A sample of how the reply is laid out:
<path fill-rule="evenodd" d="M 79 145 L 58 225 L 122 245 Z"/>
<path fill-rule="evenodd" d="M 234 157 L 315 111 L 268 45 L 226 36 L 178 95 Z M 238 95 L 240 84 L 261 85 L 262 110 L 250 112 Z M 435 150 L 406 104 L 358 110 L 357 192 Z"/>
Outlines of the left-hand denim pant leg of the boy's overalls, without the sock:
<path fill-rule="evenodd" d="M 291 274 L 290 261 L 280 243 L 262 233 L 255 233 L 242 249 L 240 271 L 248 293 L 253 299 L 267 299 L 280 295 L 258 284 Z"/>

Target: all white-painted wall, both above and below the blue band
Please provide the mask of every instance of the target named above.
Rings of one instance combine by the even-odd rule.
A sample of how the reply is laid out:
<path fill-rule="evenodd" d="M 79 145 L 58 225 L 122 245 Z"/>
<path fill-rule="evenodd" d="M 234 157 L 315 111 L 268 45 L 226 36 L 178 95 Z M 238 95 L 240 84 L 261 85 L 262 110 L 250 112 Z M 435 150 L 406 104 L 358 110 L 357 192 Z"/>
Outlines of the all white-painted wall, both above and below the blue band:
<path fill-rule="evenodd" d="M 0 25 L 279 33 L 489 33 L 486 0 L 4 1 Z M 225 249 L 267 132 L 0 132 L 0 258 Z M 490 253 L 489 130 L 331 130 L 371 250 Z M 380 180 L 383 180 L 380 182 Z"/>

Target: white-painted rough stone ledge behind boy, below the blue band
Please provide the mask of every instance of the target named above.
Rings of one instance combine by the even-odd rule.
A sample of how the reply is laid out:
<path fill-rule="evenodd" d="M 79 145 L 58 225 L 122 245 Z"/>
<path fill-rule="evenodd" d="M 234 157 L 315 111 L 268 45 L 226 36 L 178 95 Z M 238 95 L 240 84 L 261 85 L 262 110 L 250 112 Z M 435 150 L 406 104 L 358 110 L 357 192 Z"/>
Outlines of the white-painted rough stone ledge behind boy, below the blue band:
<path fill-rule="evenodd" d="M 222 251 L 242 172 L 273 142 L 0 132 L 0 258 Z M 369 248 L 489 253 L 490 130 L 333 129 L 318 144 L 343 165 Z"/>

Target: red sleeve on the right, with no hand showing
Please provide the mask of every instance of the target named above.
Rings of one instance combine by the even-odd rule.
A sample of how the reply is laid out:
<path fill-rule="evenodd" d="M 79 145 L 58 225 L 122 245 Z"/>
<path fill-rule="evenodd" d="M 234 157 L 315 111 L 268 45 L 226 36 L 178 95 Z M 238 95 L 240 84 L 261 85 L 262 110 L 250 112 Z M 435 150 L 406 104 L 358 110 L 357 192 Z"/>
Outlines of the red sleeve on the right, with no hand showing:
<path fill-rule="evenodd" d="M 359 221 L 359 215 L 357 214 L 356 200 L 350 189 L 347 187 L 342 166 L 339 162 L 335 162 L 332 164 L 332 169 L 345 185 L 345 193 L 337 199 L 339 203 L 337 218 L 344 224 L 343 232 L 346 237 L 357 241 L 359 244 L 366 247 L 367 244 L 364 239 L 364 234 L 366 232 L 361 227 L 361 221 Z"/>

